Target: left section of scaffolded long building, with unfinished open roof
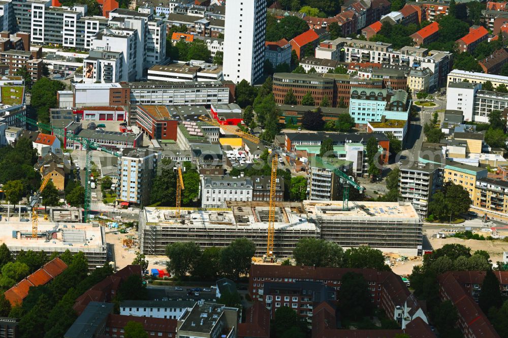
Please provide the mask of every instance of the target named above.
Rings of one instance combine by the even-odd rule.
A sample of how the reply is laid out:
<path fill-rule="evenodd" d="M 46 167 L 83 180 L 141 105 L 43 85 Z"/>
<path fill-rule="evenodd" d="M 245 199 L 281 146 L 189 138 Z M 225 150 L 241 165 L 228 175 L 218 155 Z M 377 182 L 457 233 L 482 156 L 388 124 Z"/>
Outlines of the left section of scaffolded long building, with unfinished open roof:
<path fill-rule="evenodd" d="M 196 242 L 202 248 L 226 247 L 239 238 L 256 244 L 256 255 L 266 254 L 268 236 L 267 202 L 228 202 L 225 209 L 144 208 L 139 213 L 141 251 L 165 255 L 168 244 Z M 307 220 L 301 202 L 277 202 L 275 210 L 274 254 L 293 255 L 299 239 L 319 238 L 319 231 Z"/>

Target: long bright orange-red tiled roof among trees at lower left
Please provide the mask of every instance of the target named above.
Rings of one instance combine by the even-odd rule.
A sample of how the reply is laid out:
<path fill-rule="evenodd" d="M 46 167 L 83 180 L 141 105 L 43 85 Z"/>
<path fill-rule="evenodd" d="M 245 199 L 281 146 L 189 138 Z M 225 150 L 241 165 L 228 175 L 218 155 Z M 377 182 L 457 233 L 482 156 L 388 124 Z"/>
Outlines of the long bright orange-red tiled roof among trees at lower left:
<path fill-rule="evenodd" d="M 28 295 L 30 287 L 48 283 L 53 278 L 60 275 L 66 268 L 67 264 L 60 258 L 56 257 L 44 264 L 35 273 L 26 277 L 21 282 L 7 290 L 4 293 L 5 298 L 9 300 L 11 306 L 21 305 L 23 303 L 23 299 Z"/>

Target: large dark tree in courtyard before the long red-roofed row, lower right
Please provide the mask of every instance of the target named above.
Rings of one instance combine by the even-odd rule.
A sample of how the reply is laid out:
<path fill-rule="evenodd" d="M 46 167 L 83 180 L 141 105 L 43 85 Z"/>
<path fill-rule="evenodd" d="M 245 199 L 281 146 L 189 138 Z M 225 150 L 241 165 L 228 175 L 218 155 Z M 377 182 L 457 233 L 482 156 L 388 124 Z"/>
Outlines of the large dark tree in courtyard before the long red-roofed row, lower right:
<path fill-rule="evenodd" d="M 370 291 L 362 274 L 354 272 L 342 276 L 339 291 L 341 313 L 346 318 L 358 320 L 372 312 Z"/>

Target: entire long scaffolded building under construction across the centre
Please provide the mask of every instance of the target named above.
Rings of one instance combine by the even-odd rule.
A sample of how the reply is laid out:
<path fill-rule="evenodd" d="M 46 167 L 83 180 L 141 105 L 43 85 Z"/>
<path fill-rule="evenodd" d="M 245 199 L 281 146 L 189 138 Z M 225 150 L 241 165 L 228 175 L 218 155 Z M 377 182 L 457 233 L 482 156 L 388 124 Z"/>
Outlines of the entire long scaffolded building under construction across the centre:
<path fill-rule="evenodd" d="M 164 255 L 175 242 L 196 242 L 202 248 L 225 247 L 239 238 L 252 240 L 256 255 L 266 254 L 268 202 L 227 202 L 225 209 L 145 208 L 139 236 L 146 255 Z M 421 255 L 422 221 L 410 203 L 341 201 L 277 202 L 273 254 L 293 255 L 299 239 L 322 238 L 343 248 L 370 246 L 385 253 Z"/>

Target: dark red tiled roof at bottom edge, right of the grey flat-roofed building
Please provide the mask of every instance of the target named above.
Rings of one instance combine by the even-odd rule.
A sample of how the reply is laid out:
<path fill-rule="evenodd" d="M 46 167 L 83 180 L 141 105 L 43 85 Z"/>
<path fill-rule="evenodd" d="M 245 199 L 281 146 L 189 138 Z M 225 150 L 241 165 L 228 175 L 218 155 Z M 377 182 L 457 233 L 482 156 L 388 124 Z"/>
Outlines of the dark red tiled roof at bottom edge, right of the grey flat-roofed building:
<path fill-rule="evenodd" d="M 238 324 L 238 337 L 270 337 L 270 311 L 263 302 L 254 302 L 254 305 L 246 311 L 245 323 Z"/>

